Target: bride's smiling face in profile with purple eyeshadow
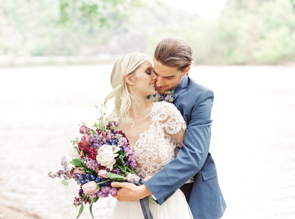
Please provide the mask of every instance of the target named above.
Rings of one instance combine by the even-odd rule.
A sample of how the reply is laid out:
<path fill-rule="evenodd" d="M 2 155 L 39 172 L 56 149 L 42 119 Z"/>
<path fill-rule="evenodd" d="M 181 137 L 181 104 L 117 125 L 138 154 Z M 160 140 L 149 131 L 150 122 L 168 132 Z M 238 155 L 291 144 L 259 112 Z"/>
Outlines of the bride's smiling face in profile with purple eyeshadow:
<path fill-rule="evenodd" d="M 132 90 L 136 94 L 138 93 L 148 96 L 156 93 L 155 81 L 157 80 L 157 76 L 153 71 L 153 65 L 150 61 L 141 64 L 132 75 L 132 79 Z"/>

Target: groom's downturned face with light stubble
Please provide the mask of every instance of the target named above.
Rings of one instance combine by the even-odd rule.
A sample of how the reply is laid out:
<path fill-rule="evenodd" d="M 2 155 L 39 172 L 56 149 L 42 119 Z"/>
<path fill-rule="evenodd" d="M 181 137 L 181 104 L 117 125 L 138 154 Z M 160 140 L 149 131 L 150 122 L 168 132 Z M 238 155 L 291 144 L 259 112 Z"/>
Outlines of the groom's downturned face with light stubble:
<path fill-rule="evenodd" d="M 154 71 L 158 76 L 156 89 L 160 94 L 174 90 L 180 84 L 182 77 L 187 74 L 187 71 L 181 72 L 177 67 L 163 65 L 156 59 L 154 60 Z"/>

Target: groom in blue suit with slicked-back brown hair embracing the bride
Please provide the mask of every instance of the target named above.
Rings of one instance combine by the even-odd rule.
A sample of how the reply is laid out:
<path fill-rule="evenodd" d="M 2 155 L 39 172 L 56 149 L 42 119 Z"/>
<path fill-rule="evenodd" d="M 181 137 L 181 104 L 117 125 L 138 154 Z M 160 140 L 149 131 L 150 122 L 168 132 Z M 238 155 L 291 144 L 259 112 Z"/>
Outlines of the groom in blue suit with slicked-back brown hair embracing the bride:
<path fill-rule="evenodd" d="M 122 187 L 113 197 L 133 201 L 153 195 L 161 205 L 180 188 L 186 196 L 194 219 L 220 218 L 226 204 L 220 191 L 217 171 L 209 144 L 213 92 L 187 77 L 193 52 L 189 44 L 177 38 L 163 39 L 155 49 L 156 89 L 162 96 L 174 90 L 173 104 L 186 121 L 183 147 L 177 157 L 144 185 L 112 182 Z"/>

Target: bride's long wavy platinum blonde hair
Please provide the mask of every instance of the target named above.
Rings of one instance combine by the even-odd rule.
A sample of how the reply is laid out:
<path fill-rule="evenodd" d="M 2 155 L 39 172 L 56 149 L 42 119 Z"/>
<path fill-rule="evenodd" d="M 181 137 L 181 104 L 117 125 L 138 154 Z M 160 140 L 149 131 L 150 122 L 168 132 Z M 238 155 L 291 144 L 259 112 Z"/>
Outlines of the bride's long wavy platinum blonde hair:
<path fill-rule="evenodd" d="M 150 61 L 148 55 L 133 52 L 123 55 L 114 64 L 111 74 L 111 85 L 113 90 L 106 96 L 104 102 L 114 97 L 114 112 L 118 113 L 120 120 L 123 120 L 124 122 L 134 123 L 134 120 L 129 117 L 132 97 L 128 91 L 124 77 L 126 75 L 133 75 L 134 72 L 146 61 Z"/>

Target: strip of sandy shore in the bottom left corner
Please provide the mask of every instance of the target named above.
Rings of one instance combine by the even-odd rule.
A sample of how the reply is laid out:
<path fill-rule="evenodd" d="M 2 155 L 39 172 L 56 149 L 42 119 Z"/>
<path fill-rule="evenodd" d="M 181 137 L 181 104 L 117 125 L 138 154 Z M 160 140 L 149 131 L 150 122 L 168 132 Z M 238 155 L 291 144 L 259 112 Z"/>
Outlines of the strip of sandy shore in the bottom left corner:
<path fill-rule="evenodd" d="M 41 219 L 38 215 L 32 215 L 26 211 L 14 207 L 0 205 L 0 219 Z"/>

